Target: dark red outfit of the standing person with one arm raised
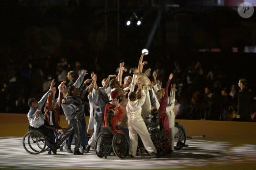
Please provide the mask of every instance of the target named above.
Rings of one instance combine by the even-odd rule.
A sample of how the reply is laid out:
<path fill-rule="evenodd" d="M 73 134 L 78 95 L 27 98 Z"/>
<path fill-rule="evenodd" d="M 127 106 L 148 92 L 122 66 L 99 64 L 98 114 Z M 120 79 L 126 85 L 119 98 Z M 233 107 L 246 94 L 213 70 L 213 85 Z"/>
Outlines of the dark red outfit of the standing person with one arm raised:
<path fill-rule="evenodd" d="M 170 130 L 169 130 L 169 119 L 166 114 L 166 106 L 168 101 L 168 88 L 169 88 L 170 82 L 171 80 L 168 80 L 168 82 L 166 83 L 165 96 L 159 100 L 160 107 L 158 109 L 160 130 L 164 129 L 164 133 L 168 136 L 170 134 Z"/>

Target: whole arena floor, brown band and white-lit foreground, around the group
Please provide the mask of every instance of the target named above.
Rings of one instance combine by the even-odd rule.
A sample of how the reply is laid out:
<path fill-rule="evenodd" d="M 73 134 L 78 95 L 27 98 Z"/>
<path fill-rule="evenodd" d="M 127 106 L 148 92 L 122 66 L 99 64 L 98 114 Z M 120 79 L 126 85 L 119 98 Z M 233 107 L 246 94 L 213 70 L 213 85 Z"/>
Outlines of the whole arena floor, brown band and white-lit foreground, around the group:
<path fill-rule="evenodd" d="M 187 148 L 174 151 L 172 154 L 153 158 L 142 155 L 135 158 L 120 159 L 111 155 L 107 159 L 98 158 L 91 149 L 83 156 L 75 156 L 57 151 L 57 155 L 43 152 L 31 155 L 25 151 L 22 135 L 26 129 L 21 129 L 21 119 L 15 124 L 4 121 L 0 114 L 0 169 L 87 169 L 87 170 L 139 170 L 139 169 L 207 169 L 207 170 L 255 170 L 256 169 L 256 131 L 255 123 L 235 123 L 218 121 L 189 121 L 179 120 L 185 125 Z M 16 118 L 21 115 L 8 115 Z M 26 118 L 25 115 L 23 117 Z M 26 119 L 25 119 L 26 120 Z M 27 122 L 24 120 L 24 124 Z M 25 126 L 24 127 L 27 127 Z M 12 130 L 10 127 L 15 128 Z M 3 133 L 8 133 L 6 135 Z M 9 131 L 9 132 L 8 132 Z M 233 132 L 233 133 L 232 133 Z M 244 132 L 244 133 L 242 133 Z M 237 134 L 239 133 L 239 134 Z M 4 135 L 3 135 L 4 134 Z M 15 134 L 15 135 L 13 135 Z M 195 134 L 205 134 L 206 137 L 196 137 Z M 72 148 L 74 146 L 72 145 Z"/>

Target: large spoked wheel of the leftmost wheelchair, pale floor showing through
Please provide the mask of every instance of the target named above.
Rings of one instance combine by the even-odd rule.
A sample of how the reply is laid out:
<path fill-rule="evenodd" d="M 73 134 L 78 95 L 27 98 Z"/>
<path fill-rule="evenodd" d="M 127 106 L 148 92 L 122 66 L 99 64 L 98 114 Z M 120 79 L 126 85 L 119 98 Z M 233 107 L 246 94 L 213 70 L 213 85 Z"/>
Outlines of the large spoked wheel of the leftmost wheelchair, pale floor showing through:
<path fill-rule="evenodd" d="M 45 151 L 45 135 L 39 130 L 29 130 L 23 137 L 23 147 L 30 154 L 39 154 Z"/>

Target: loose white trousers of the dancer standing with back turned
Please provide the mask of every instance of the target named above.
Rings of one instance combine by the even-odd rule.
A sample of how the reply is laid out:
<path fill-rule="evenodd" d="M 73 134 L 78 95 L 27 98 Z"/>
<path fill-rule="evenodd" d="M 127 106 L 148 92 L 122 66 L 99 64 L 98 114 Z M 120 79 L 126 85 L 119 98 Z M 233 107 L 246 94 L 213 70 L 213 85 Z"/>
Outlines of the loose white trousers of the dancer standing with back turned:
<path fill-rule="evenodd" d="M 142 118 L 134 120 L 128 119 L 128 129 L 130 136 L 130 155 L 136 156 L 138 147 L 138 134 L 141 138 L 141 141 L 143 142 L 145 149 L 147 149 L 148 152 L 157 153 L 151 140 L 150 134 L 148 133 L 146 124 Z"/>

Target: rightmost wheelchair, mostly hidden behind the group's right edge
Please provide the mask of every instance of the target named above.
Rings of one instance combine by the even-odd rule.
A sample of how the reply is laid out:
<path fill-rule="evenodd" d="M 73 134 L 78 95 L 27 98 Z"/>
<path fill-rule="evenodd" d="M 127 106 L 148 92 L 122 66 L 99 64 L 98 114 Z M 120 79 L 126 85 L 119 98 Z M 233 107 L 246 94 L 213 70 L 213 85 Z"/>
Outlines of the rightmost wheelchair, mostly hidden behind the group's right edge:
<path fill-rule="evenodd" d="M 186 133 L 184 130 L 184 126 L 179 124 L 178 122 L 175 122 L 174 128 L 174 146 L 176 145 L 175 150 L 180 150 L 186 143 Z"/>

